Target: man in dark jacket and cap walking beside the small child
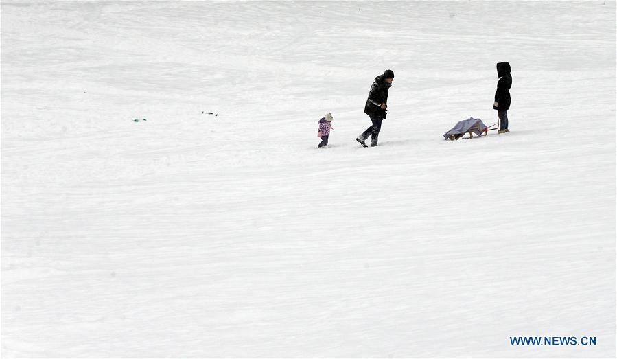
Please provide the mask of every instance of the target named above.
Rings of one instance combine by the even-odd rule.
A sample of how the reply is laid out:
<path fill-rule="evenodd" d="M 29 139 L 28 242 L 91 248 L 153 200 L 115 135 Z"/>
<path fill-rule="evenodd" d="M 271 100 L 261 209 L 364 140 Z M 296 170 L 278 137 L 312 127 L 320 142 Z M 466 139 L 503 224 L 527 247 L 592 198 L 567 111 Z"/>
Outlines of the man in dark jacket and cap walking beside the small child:
<path fill-rule="evenodd" d="M 369 115 L 373 124 L 356 138 L 356 141 L 360 142 L 363 147 L 368 147 L 364 141 L 369 138 L 369 135 L 371 136 L 371 147 L 377 146 L 377 139 L 382 129 L 382 120 L 386 119 L 388 89 L 392 86 L 393 81 L 394 72 L 386 70 L 383 75 L 375 78 L 375 82 L 371 86 L 369 98 L 366 99 L 366 105 L 364 105 L 364 113 Z"/>

